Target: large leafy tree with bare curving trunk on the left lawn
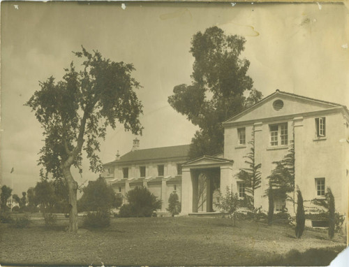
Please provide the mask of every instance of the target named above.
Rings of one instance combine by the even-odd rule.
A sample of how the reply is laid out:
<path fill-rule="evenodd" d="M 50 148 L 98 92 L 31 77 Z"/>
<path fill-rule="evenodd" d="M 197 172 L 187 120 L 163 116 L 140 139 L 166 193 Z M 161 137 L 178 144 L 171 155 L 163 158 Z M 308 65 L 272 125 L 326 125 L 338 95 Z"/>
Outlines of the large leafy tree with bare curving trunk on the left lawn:
<path fill-rule="evenodd" d="M 114 129 L 119 121 L 134 134 L 142 131 L 142 104 L 134 91 L 140 85 L 131 77 L 133 65 L 112 62 L 100 52 L 90 53 L 84 48 L 74 54 L 82 58 L 82 70 L 76 71 L 72 62 L 62 80 L 55 82 L 50 77 L 40 82 L 41 89 L 26 103 L 44 130 L 39 164 L 53 178 L 64 178 L 68 186 L 68 231 L 77 231 L 77 182 L 70 168 L 82 171 L 82 150 L 96 173 L 102 168 L 96 154 L 99 140 L 105 138 L 108 126 Z"/>

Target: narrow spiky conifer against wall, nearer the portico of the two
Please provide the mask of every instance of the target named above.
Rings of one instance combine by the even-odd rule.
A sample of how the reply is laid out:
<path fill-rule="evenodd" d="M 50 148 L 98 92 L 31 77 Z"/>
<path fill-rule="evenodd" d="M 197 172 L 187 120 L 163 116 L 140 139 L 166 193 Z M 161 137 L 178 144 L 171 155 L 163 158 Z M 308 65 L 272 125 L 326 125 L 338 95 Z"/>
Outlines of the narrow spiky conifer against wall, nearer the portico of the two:
<path fill-rule="evenodd" d="M 255 208 L 254 207 L 254 198 L 255 190 L 260 188 L 261 183 L 261 174 L 260 168 L 262 164 L 257 164 L 255 162 L 255 139 L 254 131 L 252 133 L 252 139 L 248 142 L 251 145 L 250 152 L 244 156 L 247 160 L 245 163 L 248 165 L 248 168 L 240 169 L 237 173 L 237 179 L 244 181 L 245 184 L 245 194 L 246 194 L 246 208 Z"/>

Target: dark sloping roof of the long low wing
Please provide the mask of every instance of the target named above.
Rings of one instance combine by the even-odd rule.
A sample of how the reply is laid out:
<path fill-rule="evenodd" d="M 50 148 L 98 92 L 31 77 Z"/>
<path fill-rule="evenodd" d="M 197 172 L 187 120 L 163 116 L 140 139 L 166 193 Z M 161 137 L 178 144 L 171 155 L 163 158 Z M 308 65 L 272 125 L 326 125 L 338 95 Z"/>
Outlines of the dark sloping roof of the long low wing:
<path fill-rule="evenodd" d="M 123 163 L 128 161 L 150 161 L 154 159 L 169 159 L 179 157 L 186 158 L 188 157 L 189 147 L 190 145 L 174 145 L 171 147 L 155 147 L 144 150 L 130 151 L 121 156 L 120 159 L 116 159 L 107 164 Z"/>

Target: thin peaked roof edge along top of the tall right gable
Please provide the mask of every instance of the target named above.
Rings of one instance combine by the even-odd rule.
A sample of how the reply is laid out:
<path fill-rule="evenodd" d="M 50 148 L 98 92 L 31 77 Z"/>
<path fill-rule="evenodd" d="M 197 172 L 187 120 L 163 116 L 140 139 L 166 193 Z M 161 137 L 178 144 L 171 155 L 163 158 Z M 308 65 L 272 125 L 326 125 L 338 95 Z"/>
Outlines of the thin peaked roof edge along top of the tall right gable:
<path fill-rule="evenodd" d="M 228 118 L 228 120 L 225 120 L 223 122 L 223 125 L 228 124 L 229 122 L 234 121 L 235 119 L 241 117 L 242 115 L 245 115 L 246 113 L 251 112 L 251 110 L 254 110 L 258 106 L 261 106 L 265 101 L 267 101 L 268 99 L 272 98 L 273 96 L 277 96 L 277 95 L 291 96 L 291 97 L 298 98 L 298 99 L 304 99 L 306 101 L 318 102 L 322 105 L 333 106 L 334 108 L 340 107 L 346 111 L 347 115 L 349 115 L 348 108 L 344 105 L 339 104 L 339 103 L 333 103 L 333 102 L 323 101 L 323 100 L 319 100 L 319 99 L 312 99 L 312 98 L 307 97 L 307 96 L 300 96 L 299 94 L 292 94 L 292 93 L 283 92 L 283 91 L 280 91 L 279 89 L 276 89 L 276 91 L 274 93 L 269 94 L 269 96 L 266 96 L 264 99 L 258 101 L 258 103 L 255 103 L 253 106 L 246 108 L 246 110 L 243 110 L 241 113 L 235 114 L 232 117 Z"/>

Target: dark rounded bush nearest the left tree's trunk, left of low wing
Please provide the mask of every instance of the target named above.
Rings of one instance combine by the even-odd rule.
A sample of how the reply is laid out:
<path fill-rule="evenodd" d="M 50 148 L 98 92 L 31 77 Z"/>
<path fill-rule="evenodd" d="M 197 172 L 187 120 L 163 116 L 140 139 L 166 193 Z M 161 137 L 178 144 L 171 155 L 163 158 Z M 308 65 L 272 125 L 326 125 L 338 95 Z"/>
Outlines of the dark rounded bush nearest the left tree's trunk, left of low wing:
<path fill-rule="evenodd" d="M 89 181 L 87 187 L 82 189 L 82 197 L 77 201 L 78 210 L 81 211 L 109 211 L 111 208 L 119 208 L 122 204 L 121 196 L 118 196 L 104 178 Z"/>

